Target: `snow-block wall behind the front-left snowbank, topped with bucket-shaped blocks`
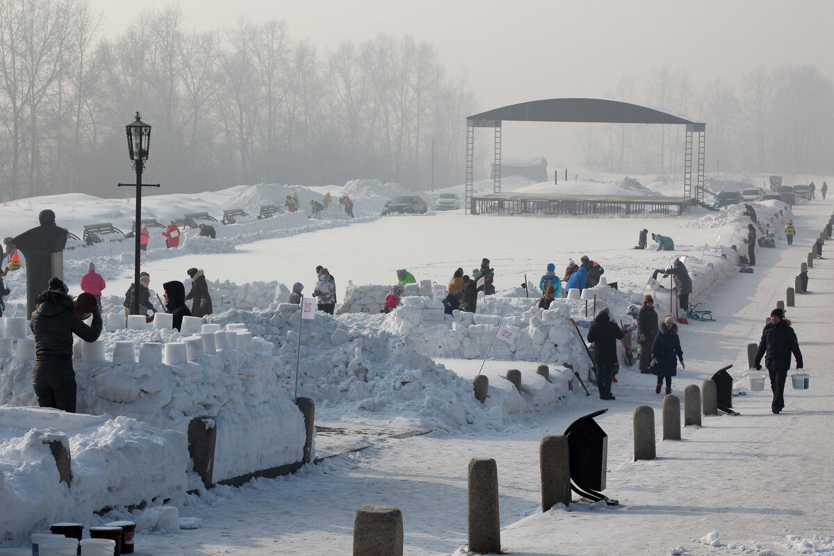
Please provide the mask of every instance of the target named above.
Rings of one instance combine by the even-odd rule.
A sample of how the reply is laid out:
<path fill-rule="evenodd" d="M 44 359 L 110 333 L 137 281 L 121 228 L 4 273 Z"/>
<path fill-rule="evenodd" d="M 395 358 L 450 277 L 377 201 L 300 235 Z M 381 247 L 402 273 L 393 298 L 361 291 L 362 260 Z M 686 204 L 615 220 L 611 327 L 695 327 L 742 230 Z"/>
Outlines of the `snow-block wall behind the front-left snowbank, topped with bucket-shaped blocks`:
<path fill-rule="evenodd" d="M 299 462 L 304 418 L 293 403 L 284 364 L 269 353 L 263 339 L 254 338 L 254 351 L 219 349 L 177 365 L 110 363 L 116 341 L 138 346 L 181 339 L 175 330 L 102 333 L 107 361 L 73 362 L 78 411 L 138 418 L 182 433 L 194 417 L 215 418 L 215 481 Z M 0 403 L 37 403 L 31 361 L 0 359 Z"/>

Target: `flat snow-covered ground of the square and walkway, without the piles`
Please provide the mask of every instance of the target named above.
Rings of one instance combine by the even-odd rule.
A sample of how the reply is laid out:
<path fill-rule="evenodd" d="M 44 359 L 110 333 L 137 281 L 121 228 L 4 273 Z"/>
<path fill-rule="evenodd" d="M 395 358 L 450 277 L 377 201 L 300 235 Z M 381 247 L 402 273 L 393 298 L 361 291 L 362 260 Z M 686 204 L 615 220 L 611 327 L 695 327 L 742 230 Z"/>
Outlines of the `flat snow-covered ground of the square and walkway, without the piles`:
<path fill-rule="evenodd" d="M 679 194 L 667 192 L 664 184 L 657 189 Z M 746 368 L 746 343 L 757 340 L 764 318 L 792 285 L 811 239 L 827 222 L 832 207 L 830 200 L 796 207 L 794 222 L 800 235 L 794 246 L 780 242 L 776 249 L 758 249 L 756 273 L 733 273 L 702 294 L 698 301 L 712 308 L 718 321 L 682 327 L 686 371 L 673 384 L 676 393 L 728 363 L 735 364 L 734 377 L 741 375 Z M 768 208 L 777 210 L 776 205 Z M 33 208 L 32 214 L 36 213 Z M 674 254 L 696 258 L 701 258 L 705 243 L 715 246 L 719 235 L 721 244 L 741 245 L 737 222 L 706 211 L 682 218 L 470 218 L 453 211 L 379 219 L 368 214 L 364 222 L 329 226 L 263 239 L 252 234 L 230 253 L 162 252 L 158 258 L 149 257 L 144 268 L 154 277 L 154 284 L 183 278 L 186 268 L 196 266 L 205 268 L 211 279 L 237 283 L 299 280 L 309 291 L 314 267 L 324 264 L 334 273 L 341 297 L 348 280 L 390 283 L 397 268 L 408 268 L 418 279 L 446 283 L 455 268 L 463 266 L 469 272 L 482 257 L 490 258 L 495 266 L 496 287 L 513 288 L 525 273 L 538 283 L 546 263 L 555 263 L 561 272 L 568 258 L 578 260 L 587 253 L 605 267 L 609 281 L 618 281 L 620 289 L 639 292 L 651 268 L 663 268 L 672 254 L 631 249 L 641 228 L 670 235 L 678 247 Z M 709 253 L 710 249 L 705 260 L 715 257 Z M 105 253 L 101 257 L 106 261 Z M 130 281 L 129 263 L 114 262 L 109 268 L 113 276 L 105 278 L 110 288 L 123 292 Z M 705 418 L 703 428 L 684 431 L 684 441 L 658 443 L 655 461 L 632 463 L 631 412 L 636 405 L 649 404 L 658 410 L 659 425 L 661 397 L 654 393 L 651 378 L 624 368 L 620 383 L 615 384 L 615 402 L 575 393 L 546 411 L 517 416 L 497 431 L 445 429 L 389 439 L 359 453 L 308 466 L 292 477 L 256 480 L 239 489 L 214 488 L 189 498 L 180 508 L 181 515 L 202 518 L 202 528 L 165 536 L 140 534 L 138 552 L 348 553 L 355 509 L 365 503 L 389 503 L 403 511 L 406 553 L 455 553 L 466 543 L 466 463 L 473 457 L 492 457 L 498 463 L 503 545 L 509 553 L 663 554 L 677 546 L 690 554 L 766 555 L 768 550 L 793 554 L 811 549 L 834 553 L 831 541 L 825 540 L 834 533 L 828 499 L 834 453 L 828 406 L 834 388 L 823 382 L 823 358 L 830 353 L 829 338 L 834 332 L 834 265 L 830 261 L 816 264 L 809 288 L 814 293 L 800 297 L 788 317 L 800 338 L 811 390 L 789 390 L 782 415 L 770 413 L 768 393 L 748 393 L 734 398 L 740 417 Z M 354 317 L 344 318 L 347 322 Z M 475 365 L 455 359 L 438 362 L 464 377 L 471 376 Z M 490 361 L 486 372 L 497 375 L 506 368 L 521 368 L 526 373 L 535 364 Z M 575 511 L 537 513 L 540 438 L 561 433 L 578 416 L 604 407 L 610 411 L 598 421 L 609 434 L 605 492 L 620 499 L 620 507 L 590 508 L 580 503 L 571 508 Z M 324 409 L 321 415 L 338 418 L 339 411 Z M 352 426 L 363 419 L 391 428 L 399 423 L 396 418 L 374 421 L 357 413 Z M 112 517 L 127 517 L 127 513 Z M 721 531 L 726 547 L 693 542 L 714 530 Z M 814 540 L 815 534 L 821 538 Z M 799 539 L 789 540 L 786 535 Z"/>

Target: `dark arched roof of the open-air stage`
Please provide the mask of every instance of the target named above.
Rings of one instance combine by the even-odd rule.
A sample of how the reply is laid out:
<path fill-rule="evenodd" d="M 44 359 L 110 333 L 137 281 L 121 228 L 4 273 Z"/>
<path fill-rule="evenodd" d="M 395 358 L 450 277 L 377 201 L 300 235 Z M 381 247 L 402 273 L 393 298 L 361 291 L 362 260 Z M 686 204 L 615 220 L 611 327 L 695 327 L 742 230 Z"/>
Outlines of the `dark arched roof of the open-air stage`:
<path fill-rule="evenodd" d="M 683 114 L 641 104 L 623 103 L 605 98 L 548 98 L 510 104 L 466 118 L 475 127 L 493 127 L 490 121 L 513 122 L 584 122 L 584 123 L 669 123 L 706 124 Z M 700 131 L 700 130 L 696 130 Z"/>

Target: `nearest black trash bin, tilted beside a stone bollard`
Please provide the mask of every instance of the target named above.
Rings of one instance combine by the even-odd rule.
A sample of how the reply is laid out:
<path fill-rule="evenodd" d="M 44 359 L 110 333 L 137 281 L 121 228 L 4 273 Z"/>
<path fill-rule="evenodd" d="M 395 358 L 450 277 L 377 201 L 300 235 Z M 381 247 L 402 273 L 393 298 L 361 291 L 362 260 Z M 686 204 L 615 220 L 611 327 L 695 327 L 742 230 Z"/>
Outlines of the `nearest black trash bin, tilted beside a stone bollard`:
<path fill-rule="evenodd" d="M 608 435 L 594 420 L 608 409 L 600 409 L 576 419 L 565 429 L 570 453 L 570 489 L 591 500 L 605 500 L 617 504 L 601 494 L 605 490 L 605 471 L 608 467 Z"/>

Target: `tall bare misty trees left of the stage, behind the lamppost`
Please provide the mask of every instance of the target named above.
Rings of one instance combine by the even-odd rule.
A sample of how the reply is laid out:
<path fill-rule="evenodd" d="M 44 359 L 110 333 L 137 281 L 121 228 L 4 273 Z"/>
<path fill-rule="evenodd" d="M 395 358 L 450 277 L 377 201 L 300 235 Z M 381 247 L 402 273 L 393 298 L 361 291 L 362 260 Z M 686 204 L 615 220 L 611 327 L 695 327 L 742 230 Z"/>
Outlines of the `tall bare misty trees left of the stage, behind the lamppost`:
<path fill-rule="evenodd" d="M 462 183 L 474 95 L 429 43 L 379 35 L 318 53 L 287 23 L 183 29 L 146 12 L 115 38 L 85 0 L 0 2 L 0 201 L 113 197 L 133 175 L 124 125 L 153 126 L 146 183 L 408 188 Z"/>

